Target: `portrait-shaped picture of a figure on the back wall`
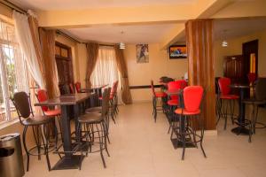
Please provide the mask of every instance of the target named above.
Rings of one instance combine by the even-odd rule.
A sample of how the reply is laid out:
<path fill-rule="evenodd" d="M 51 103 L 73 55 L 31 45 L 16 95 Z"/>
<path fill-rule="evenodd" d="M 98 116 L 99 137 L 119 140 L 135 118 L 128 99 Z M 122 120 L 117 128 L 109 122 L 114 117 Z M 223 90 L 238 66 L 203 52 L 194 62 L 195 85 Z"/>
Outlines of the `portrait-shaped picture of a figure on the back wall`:
<path fill-rule="evenodd" d="M 137 44 L 137 63 L 149 63 L 149 45 Z"/>

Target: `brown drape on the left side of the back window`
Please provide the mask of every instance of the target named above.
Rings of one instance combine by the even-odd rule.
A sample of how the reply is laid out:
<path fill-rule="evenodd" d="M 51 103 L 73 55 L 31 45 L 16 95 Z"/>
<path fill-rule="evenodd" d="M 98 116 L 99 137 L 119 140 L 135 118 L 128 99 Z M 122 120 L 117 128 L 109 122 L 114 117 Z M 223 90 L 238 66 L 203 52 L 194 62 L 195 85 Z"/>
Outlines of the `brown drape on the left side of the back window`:
<path fill-rule="evenodd" d="M 96 65 L 96 61 L 98 58 L 98 43 L 87 43 L 87 56 L 88 56 L 88 61 L 87 61 L 87 72 L 86 72 L 86 88 L 90 89 L 91 88 L 91 82 L 90 82 L 90 75 L 94 70 L 94 67 Z"/>

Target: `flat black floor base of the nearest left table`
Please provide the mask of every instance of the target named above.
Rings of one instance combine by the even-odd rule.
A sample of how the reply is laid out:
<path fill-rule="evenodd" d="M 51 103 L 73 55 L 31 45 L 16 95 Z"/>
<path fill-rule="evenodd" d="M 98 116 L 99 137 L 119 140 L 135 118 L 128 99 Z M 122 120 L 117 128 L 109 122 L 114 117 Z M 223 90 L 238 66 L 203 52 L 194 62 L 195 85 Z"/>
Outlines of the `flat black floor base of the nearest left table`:
<path fill-rule="evenodd" d="M 71 158 L 63 157 L 51 170 L 78 169 L 82 165 L 83 158 L 84 156 L 82 155 L 73 155 Z"/>

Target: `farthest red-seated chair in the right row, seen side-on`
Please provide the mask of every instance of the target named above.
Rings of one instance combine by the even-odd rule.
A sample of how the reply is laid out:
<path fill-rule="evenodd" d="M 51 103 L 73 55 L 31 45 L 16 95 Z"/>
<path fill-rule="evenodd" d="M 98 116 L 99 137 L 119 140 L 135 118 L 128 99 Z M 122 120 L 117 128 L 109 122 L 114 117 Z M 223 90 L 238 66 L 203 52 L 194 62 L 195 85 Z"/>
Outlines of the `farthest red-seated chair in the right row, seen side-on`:
<path fill-rule="evenodd" d="M 163 111 L 164 112 L 164 101 L 163 98 L 166 98 L 167 95 L 162 92 L 162 91 L 155 91 L 154 89 L 154 85 L 153 85 L 153 81 L 151 81 L 151 88 L 153 91 L 153 118 L 154 121 L 156 122 L 156 118 L 157 118 L 157 111 Z M 158 98 L 160 98 L 161 100 L 161 105 L 157 105 L 158 102 Z"/>

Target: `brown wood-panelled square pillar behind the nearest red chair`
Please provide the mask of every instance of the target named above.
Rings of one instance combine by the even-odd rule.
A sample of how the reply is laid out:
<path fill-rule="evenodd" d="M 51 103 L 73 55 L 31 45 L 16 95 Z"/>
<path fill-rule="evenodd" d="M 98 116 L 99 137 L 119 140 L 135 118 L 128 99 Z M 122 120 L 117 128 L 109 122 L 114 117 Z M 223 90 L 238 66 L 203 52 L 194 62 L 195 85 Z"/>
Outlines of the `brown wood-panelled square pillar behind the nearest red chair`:
<path fill-rule="evenodd" d="M 215 129 L 215 77 L 212 19 L 193 19 L 185 24 L 190 85 L 205 89 L 202 117 L 205 127 Z"/>

